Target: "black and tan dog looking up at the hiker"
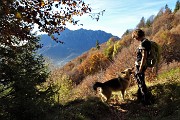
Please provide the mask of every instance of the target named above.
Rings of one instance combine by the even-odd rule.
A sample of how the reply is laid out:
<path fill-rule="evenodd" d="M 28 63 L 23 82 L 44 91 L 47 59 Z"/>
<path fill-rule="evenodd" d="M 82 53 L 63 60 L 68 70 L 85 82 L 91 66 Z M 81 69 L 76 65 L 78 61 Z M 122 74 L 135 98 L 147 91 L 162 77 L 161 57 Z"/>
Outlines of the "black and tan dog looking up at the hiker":
<path fill-rule="evenodd" d="M 123 72 L 121 72 L 122 75 L 119 76 L 118 78 L 113 78 L 104 83 L 96 82 L 93 85 L 93 89 L 97 91 L 97 88 L 99 87 L 101 88 L 99 92 L 100 95 L 102 96 L 101 97 L 102 101 L 108 102 L 110 100 L 112 92 L 118 92 L 118 91 L 121 91 L 122 98 L 124 100 L 124 93 L 125 90 L 130 85 L 130 76 L 133 73 L 133 69 L 134 68 L 127 68 Z M 103 98 L 105 100 L 103 100 Z"/>

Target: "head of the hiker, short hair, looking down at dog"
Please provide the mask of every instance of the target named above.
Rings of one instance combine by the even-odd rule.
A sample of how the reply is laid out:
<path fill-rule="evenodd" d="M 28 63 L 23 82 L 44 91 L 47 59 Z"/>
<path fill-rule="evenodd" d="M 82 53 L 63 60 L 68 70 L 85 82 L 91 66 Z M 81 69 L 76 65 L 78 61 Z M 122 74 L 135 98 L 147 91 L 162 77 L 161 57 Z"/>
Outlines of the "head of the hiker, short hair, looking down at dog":
<path fill-rule="evenodd" d="M 136 39 L 136 40 L 138 40 L 138 41 L 143 40 L 144 37 L 145 37 L 145 33 L 144 33 L 144 31 L 141 30 L 141 29 L 136 29 L 136 30 L 134 30 L 133 33 L 132 33 L 132 38 L 133 38 L 133 39 Z"/>

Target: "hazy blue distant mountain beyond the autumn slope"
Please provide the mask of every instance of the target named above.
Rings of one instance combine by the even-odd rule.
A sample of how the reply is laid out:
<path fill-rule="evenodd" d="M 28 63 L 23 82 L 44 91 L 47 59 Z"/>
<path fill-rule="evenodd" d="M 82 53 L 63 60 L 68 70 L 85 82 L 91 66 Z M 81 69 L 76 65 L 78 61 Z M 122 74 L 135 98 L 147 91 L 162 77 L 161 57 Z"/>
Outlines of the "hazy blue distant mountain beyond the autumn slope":
<path fill-rule="evenodd" d="M 55 41 L 50 40 L 51 38 L 46 34 L 41 35 L 43 47 L 39 50 L 39 53 L 48 57 L 55 66 L 62 66 L 96 46 L 96 41 L 101 44 L 112 36 L 112 34 L 100 30 L 79 29 L 73 31 L 65 29 L 60 36 L 55 36 L 58 40 L 63 41 L 63 44 L 57 44 Z"/>

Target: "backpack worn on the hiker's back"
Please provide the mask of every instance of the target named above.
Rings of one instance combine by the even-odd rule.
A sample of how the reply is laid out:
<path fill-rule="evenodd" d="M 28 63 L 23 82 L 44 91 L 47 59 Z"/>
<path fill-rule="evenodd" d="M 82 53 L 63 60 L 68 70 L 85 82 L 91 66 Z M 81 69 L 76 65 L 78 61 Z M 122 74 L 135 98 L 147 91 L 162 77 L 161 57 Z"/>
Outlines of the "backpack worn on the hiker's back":
<path fill-rule="evenodd" d="M 157 67 L 160 58 L 159 45 L 154 41 L 149 41 L 151 42 L 151 50 L 148 53 L 146 65 L 147 67 Z"/>

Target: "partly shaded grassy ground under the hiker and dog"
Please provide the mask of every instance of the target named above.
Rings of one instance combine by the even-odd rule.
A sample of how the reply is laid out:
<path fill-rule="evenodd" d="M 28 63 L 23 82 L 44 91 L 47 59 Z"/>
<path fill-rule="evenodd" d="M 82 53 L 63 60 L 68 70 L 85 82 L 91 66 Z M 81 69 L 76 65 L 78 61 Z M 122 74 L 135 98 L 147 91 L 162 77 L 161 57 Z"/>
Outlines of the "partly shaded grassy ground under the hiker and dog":
<path fill-rule="evenodd" d="M 147 83 L 154 96 L 154 104 L 143 106 L 136 103 L 137 86 L 127 91 L 126 101 L 115 104 L 102 103 L 98 98 L 75 100 L 59 109 L 56 119 L 62 120 L 178 120 L 180 118 L 180 68 L 158 76 Z"/>

